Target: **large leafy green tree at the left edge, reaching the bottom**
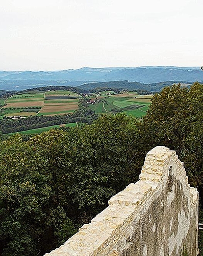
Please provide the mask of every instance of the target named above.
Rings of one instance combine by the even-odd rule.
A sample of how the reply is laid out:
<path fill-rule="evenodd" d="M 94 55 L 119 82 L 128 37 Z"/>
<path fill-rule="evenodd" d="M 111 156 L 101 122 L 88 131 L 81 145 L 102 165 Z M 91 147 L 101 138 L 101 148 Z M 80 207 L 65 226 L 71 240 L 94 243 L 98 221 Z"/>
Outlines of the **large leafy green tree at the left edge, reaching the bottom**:
<path fill-rule="evenodd" d="M 50 195 L 47 162 L 18 135 L 0 144 L 0 252 L 37 254 Z"/>

